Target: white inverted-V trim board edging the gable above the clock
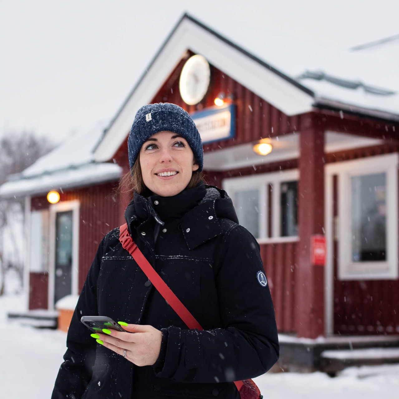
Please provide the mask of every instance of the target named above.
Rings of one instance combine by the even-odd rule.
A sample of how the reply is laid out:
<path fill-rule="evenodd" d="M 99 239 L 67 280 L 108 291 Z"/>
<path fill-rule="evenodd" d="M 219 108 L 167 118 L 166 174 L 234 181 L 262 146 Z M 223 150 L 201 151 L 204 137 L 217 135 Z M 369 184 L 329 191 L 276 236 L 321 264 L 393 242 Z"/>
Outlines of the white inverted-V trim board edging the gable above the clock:
<path fill-rule="evenodd" d="M 125 140 L 137 110 L 152 100 L 188 49 L 202 54 L 211 65 L 288 116 L 312 110 L 314 100 L 310 94 L 184 17 L 105 133 L 94 153 L 97 162 L 112 158 Z"/>

